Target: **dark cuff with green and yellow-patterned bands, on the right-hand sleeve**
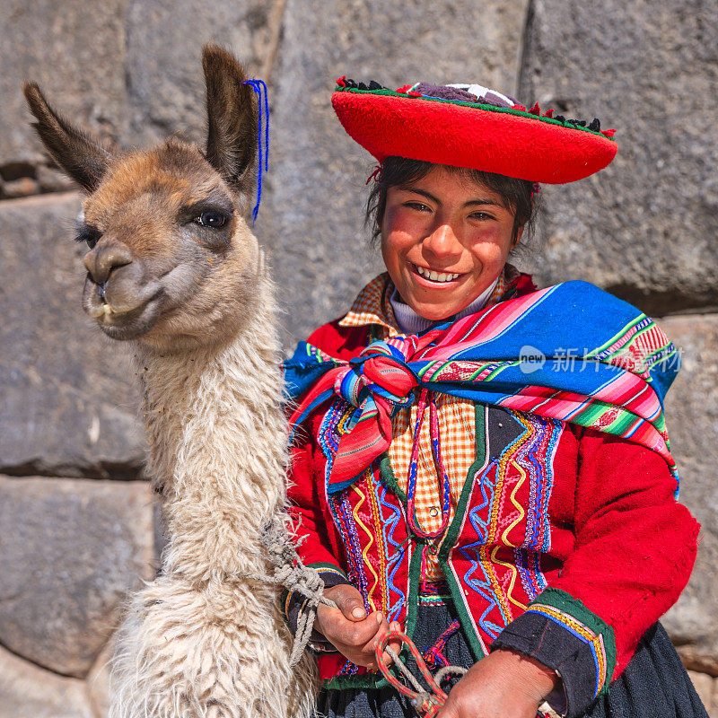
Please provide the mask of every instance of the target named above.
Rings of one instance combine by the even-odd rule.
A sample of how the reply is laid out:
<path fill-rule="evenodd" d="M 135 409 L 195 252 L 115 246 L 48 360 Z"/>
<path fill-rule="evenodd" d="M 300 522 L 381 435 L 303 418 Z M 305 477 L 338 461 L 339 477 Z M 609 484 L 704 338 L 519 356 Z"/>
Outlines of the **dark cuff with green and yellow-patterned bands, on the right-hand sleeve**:
<path fill-rule="evenodd" d="M 547 588 L 492 644 L 535 658 L 561 676 L 565 715 L 582 715 L 609 688 L 616 665 L 613 628 L 565 591 Z"/>

